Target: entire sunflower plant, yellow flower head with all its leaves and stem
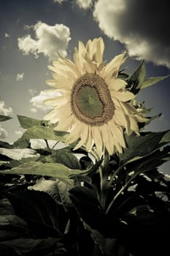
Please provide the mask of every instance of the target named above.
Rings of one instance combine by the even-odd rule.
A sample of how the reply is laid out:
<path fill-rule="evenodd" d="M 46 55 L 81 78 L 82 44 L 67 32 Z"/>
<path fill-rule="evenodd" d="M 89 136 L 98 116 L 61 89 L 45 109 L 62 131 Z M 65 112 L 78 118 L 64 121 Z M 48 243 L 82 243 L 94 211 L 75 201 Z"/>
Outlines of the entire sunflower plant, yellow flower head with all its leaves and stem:
<path fill-rule="evenodd" d="M 144 61 L 128 75 L 126 52 L 103 55 L 100 37 L 58 56 L 53 110 L 18 116 L 22 137 L 0 141 L 0 255 L 167 255 L 170 131 L 144 130 L 160 114 L 136 96 L 168 76 L 146 78 Z"/>

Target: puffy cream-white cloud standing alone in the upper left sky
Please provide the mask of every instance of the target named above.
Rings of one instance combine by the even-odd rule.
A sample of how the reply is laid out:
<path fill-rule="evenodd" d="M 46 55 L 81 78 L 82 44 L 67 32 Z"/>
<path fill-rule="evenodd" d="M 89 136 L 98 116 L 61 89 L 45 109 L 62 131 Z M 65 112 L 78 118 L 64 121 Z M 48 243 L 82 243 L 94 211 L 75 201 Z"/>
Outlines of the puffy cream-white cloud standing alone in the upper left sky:
<path fill-rule="evenodd" d="M 23 51 L 23 54 L 32 53 L 38 58 L 39 53 L 42 53 L 50 60 L 56 59 L 58 53 L 63 57 L 66 56 L 66 50 L 71 39 L 67 26 L 63 24 L 50 26 L 39 21 L 29 28 L 34 30 L 35 38 L 32 38 L 30 34 L 18 38 L 18 47 Z"/>

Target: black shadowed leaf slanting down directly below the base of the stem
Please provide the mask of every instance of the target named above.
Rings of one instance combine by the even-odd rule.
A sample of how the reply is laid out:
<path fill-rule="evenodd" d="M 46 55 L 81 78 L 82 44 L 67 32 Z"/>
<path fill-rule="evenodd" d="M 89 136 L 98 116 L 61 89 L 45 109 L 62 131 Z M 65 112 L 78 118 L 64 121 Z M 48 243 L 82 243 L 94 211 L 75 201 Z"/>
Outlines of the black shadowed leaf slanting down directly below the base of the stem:
<path fill-rule="evenodd" d="M 88 187 L 74 187 L 69 190 L 70 198 L 80 219 L 92 230 L 98 230 L 105 237 L 117 237 L 125 231 L 125 224 L 117 217 L 105 214 L 96 192 Z"/>

